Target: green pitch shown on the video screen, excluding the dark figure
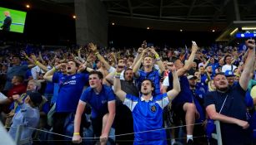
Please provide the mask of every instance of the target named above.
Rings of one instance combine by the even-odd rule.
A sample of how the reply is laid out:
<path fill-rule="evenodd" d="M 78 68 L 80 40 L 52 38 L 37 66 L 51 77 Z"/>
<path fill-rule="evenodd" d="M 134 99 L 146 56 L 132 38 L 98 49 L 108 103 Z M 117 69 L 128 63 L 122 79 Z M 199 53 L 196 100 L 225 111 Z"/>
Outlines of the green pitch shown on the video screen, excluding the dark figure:
<path fill-rule="evenodd" d="M 23 33 L 27 12 L 21 12 L 13 9 L 0 7 L 0 25 L 1 26 L 3 25 L 3 20 L 5 19 L 3 14 L 3 12 L 5 11 L 10 12 L 10 15 L 13 19 L 10 31 Z"/>

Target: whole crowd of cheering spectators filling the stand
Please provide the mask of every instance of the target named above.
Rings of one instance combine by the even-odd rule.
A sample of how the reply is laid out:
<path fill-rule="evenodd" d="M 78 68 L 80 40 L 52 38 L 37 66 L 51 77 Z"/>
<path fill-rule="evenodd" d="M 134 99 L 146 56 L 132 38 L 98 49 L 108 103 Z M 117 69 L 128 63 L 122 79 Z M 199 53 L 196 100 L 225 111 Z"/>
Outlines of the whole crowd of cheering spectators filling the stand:
<path fill-rule="evenodd" d="M 30 144 L 71 138 L 28 128 L 83 144 L 204 145 L 215 143 L 206 132 L 213 119 L 224 145 L 256 143 L 254 40 L 177 49 L 15 44 L 0 55 L 1 121 L 13 139 L 24 125 Z M 164 129 L 175 126 L 183 128 Z"/>

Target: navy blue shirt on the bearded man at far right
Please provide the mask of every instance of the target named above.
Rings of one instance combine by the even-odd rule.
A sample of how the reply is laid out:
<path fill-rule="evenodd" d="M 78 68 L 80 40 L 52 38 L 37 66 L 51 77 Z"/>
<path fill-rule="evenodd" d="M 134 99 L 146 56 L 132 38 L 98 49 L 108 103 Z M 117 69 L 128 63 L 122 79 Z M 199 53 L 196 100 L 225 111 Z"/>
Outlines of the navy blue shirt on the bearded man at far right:
<path fill-rule="evenodd" d="M 227 97 L 225 104 L 224 99 Z M 208 92 L 204 99 L 204 106 L 215 104 L 216 112 L 219 112 L 222 105 L 221 114 L 247 121 L 246 104 L 244 101 L 245 90 L 238 84 L 228 89 L 228 92 L 221 93 L 218 91 Z M 249 129 L 243 129 L 234 123 L 220 123 L 223 145 L 236 144 L 245 145 L 250 143 Z"/>

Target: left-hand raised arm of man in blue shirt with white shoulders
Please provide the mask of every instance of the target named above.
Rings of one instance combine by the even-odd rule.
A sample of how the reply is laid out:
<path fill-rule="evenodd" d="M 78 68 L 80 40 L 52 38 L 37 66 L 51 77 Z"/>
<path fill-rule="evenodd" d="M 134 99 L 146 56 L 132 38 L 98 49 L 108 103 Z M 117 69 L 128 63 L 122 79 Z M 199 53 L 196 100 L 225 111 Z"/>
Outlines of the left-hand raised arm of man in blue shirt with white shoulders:
<path fill-rule="evenodd" d="M 123 64 L 118 64 L 116 74 L 113 79 L 113 92 L 118 96 L 119 99 L 124 101 L 126 98 L 126 93 L 121 89 L 121 83 L 120 83 L 120 75 L 123 70 Z"/>

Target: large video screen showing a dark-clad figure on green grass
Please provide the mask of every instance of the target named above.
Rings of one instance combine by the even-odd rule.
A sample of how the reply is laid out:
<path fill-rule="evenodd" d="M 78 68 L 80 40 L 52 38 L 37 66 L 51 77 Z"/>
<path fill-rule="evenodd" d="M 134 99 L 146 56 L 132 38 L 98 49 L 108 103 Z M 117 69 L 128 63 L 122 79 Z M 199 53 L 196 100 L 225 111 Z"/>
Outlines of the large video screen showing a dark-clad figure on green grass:
<path fill-rule="evenodd" d="M 27 12 L 0 7 L 0 30 L 23 33 Z"/>

